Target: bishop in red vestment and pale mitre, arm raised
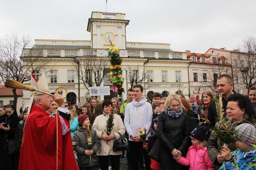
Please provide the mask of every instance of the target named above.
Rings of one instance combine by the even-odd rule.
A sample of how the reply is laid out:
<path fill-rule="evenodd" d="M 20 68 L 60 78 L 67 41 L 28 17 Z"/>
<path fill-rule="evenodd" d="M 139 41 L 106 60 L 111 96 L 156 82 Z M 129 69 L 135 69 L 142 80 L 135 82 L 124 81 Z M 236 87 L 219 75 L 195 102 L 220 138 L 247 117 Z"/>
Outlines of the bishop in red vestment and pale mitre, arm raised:
<path fill-rule="evenodd" d="M 32 76 L 31 85 L 49 92 L 44 73 L 40 80 L 37 82 Z M 64 108 L 64 98 L 57 94 L 52 97 L 39 92 L 32 92 L 31 96 L 32 106 L 24 128 L 19 169 L 78 170 L 72 147 L 70 115 Z M 46 112 L 52 107 L 52 101 L 59 104 L 55 117 L 49 117 Z"/>

